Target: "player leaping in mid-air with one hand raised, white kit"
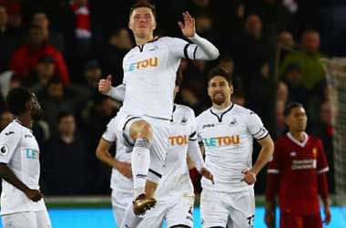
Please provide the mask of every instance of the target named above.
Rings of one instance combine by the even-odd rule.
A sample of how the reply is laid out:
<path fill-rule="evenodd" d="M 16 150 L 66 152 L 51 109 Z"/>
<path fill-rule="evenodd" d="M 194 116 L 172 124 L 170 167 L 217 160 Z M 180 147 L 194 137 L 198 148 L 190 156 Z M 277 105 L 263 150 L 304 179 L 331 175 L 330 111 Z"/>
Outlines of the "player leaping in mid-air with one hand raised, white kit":
<path fill-rule="evenodd" d="M 168 149 L 169 120 L 173 109 L 173 89 L 182 57 L 212 60 L 219 50 L 195 32 L 195 20 L 183 13 L 178 25 L 194 44 L 172 37 L 154 37 L 155 8 L 146 3 L 133 5 L 128 26 L 137 47 L 123 60 L 126 93 L 117 114 L 117 137 L 133 145 L 131 164 L 134 181 L 134 212 L 145 213 L 153 207 L 153 198 L 162 176 Z M 114 95 L 110 76 L 99 82 L 99 91 Z"/>

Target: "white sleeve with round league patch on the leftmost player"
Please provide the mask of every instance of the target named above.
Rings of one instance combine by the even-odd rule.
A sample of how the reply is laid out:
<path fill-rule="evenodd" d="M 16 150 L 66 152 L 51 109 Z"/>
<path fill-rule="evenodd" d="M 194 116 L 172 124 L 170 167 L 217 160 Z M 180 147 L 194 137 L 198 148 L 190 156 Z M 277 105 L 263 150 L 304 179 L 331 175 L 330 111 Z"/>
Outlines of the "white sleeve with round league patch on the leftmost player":
<path fill-rule="evenodd" d="M 18 147 L 22 130 L 8 126 L 0 133 L 0 162 L 8 163 Z"/>

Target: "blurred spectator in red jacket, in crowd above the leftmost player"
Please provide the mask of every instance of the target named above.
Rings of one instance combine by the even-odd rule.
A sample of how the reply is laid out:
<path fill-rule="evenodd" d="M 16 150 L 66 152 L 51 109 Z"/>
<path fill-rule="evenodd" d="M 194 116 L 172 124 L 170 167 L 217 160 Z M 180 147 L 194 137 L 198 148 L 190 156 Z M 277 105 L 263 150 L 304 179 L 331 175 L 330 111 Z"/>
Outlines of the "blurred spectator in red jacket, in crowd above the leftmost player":
<path fill-rule="evenodd" d="M 36 67 L 39 58 L 49 56 L 55 60 L 56 75 L 64 84 L 68 84 L 69 76 L 66 62 L 62 54 L 46 43 L 44 32 L 40 26 L 31 26 L 28 33 L 28 42 L 20 47 L 12 56 L 10 68 L 20 77 L 27 77 Z"/>

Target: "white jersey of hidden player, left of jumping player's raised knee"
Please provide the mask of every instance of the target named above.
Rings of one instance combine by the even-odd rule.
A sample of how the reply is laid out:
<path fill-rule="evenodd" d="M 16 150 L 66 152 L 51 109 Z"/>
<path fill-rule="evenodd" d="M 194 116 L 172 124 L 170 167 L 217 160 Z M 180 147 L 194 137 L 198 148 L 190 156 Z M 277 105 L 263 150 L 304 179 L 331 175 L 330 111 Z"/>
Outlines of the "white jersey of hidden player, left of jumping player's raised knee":
<path fill-rule="evenodd" d="M 116 156 L 117 161 L 127 161 L 131 163 L 131 149 L 127 148 L 121 140 L 117 139 L 116 129 L 117 121 L 116 117 L 111 119 L 107 124 L 107 130 L 103 133 L 102 139 L 109 142 L 116 143 Z M 110 178 L 110 188 L 117 192 L 132 192 L 133 191 L 133 181 L 130 178 L 125 177 L 117 169 L 112 169 L 112 175 Z"/>

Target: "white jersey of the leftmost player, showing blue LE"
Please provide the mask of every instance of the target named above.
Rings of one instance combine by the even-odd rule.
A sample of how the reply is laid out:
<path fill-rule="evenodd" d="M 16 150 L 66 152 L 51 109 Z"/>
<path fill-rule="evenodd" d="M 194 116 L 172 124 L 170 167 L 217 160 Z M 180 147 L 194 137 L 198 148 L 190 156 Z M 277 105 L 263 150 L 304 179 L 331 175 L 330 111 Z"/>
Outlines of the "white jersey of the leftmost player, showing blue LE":
<path fill-rule="evenodd" d="M 39 189 L 40 150 L 32 131 L 18 120 L 12 121 L 0 133 L 0 162 L 6 163 L 15 176 L 30 189 Z M 33 202 L 25 193 L 3 180 L 1 214 L 46 210 L 44 200 Z"/>

